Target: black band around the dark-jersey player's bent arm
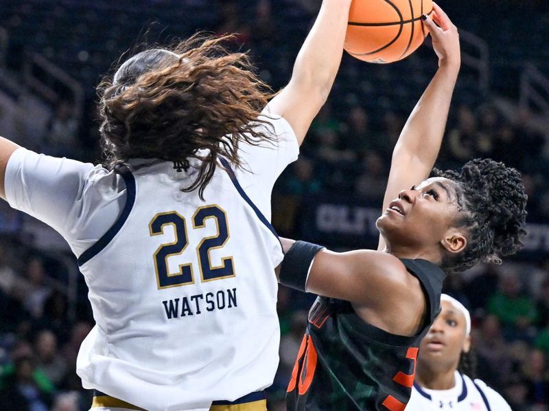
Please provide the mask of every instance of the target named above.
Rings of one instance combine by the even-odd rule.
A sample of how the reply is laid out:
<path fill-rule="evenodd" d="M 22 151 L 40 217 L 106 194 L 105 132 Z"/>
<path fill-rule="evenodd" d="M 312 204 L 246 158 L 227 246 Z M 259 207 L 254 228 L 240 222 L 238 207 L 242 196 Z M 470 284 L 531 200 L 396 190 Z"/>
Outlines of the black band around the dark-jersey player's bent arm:
<path fill-rule="evenodd" d="M 285 253 L 284 260 L 280 264 L 280 282 L 285 286 L 296 290 L 306 291 L 307 275 L 311 262 L 318 253 L 324 249 L 312 242 L 296 241 Z"/>

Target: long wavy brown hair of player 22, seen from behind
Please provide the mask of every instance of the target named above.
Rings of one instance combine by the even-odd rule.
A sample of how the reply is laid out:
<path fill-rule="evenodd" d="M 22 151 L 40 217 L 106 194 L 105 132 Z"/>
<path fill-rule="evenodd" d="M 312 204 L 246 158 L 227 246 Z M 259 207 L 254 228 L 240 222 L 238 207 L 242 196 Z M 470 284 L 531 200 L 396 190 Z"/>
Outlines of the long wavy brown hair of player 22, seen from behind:
<path fill-rule="evenodd" d="M 142 51 L 105 77 L 97 88 L 104 165 L 156 158 L 188 169 L 198 158 L 198 177 L 183 191 L 199 188 L 202 197 L 218 155 L 240 167 L 240 142 L 274 141 L 257 127 L 272 92 L 246 53 L 222 45 L 232 38 L 195 34 L 174 47 Z"/>

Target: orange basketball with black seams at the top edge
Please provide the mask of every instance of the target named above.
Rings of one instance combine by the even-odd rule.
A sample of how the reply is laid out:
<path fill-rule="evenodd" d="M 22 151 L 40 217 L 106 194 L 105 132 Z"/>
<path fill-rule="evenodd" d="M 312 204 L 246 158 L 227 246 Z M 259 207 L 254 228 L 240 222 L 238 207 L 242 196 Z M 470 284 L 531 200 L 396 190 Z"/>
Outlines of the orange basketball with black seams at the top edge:
<path fill-rule="evenodd" d="M 412 54 L 429 34 L 421 21 L 432 0 L 353 0 L 344 49 L 370 63 L 392 63 Z"/>

